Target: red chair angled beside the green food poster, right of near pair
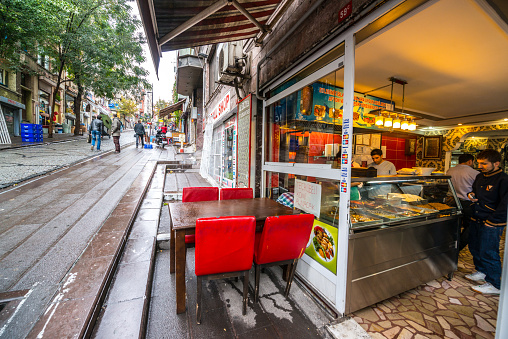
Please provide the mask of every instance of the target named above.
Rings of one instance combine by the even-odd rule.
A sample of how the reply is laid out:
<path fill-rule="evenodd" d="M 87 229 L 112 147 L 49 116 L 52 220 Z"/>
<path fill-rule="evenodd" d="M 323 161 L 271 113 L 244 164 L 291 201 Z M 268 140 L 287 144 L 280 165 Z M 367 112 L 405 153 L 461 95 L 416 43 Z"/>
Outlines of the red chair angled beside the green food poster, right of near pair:
<path fill-rule="evenodd" d="M 254 248 L 254 266 L 256 267 L 256 285 L 254 302 L 259 296 L 259 273 L 264 267 L 289 265 L 287 285 L 284 296 L 288 296 L 298 259 L 307 247 L 314 215 L 295 214 L 268 217 L 261 234 L 256 234 Z M 258 235 L 259 234 L 259 235 Z"/>

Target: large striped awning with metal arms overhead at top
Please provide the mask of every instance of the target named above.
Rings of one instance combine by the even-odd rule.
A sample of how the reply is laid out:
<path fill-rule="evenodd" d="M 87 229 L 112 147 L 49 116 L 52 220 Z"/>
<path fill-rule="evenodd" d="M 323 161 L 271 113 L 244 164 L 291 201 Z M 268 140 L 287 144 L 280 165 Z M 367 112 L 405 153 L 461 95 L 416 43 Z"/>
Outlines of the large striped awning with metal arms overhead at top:
<path fill-rule="evenodd" d="M 243 40 L 258 33 L 258 40 L 263 39 L 276 22 L 270 20 L 272 15 L 280 17 L 293 0 L 137 1 L 158 71 L 162 52 Z"/>

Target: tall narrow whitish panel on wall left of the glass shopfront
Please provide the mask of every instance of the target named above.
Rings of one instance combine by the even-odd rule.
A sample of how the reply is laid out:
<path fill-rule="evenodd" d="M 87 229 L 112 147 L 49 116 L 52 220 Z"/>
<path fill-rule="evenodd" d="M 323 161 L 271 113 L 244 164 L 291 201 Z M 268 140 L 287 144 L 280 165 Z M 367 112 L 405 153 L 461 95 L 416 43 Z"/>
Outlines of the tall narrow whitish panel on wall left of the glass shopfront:
<path fill-rule="evenodd" d="M 251 95 L 238 103 L 237 130 L 238 155 L 237 159 L 237 187 L 249 187 L 250 183 L 250 125 L 252 112 Z"/>

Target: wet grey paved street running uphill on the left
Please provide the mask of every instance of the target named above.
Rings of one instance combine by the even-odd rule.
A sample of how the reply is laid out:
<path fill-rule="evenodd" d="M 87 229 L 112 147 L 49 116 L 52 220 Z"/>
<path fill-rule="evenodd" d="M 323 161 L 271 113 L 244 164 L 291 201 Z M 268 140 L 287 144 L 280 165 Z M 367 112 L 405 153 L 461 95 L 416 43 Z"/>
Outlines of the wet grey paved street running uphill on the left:
<path fill-rule="evenodd" d="M 71 145 L 72 148 L 69 144 L 53 144 L 3 151 L 0 156 L 15 153 L 21 161 L 11 159 L 9 165 L 2 165 L 2 173 L 13 167 L 22 168 L 25 176 L 37 173 L 30 171 L 30 165 L 46 161 L 47 157 L 41 154 L 50 155 L 51 160 L 37 165 L 39 171 L 97 155 L 90 151 L 86 140 Z M 104 150 L 111 147 L 112 141 L 106 140 Z M 101 155 L 0 193 L 0 291 L 30 293 L 1 327 L 1 338 L 27 335 L 63 277 L 144 166 L 167 156 L 173 157 L 174 153 L 130 146 L 120 154 Z"/>

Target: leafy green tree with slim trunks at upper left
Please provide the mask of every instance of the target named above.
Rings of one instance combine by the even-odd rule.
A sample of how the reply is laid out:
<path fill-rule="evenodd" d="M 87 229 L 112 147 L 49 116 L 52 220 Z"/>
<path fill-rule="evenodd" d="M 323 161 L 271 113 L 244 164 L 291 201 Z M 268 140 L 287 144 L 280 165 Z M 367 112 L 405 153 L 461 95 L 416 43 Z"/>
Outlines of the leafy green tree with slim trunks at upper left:
<path fill-rule="evenodd" d="M 0 56 L 8 60 L 11 68 L 23 67 L 21 56 L 29 54 L 35 46 L 35 54 L 49 56 L 51 71 L 56 74 L 51 107 L 55 106 L 60 85 L 74 81 L 78 86 L 75 112 L 79 125 L 81 98 L 86 89 L 113 98 L 118 91 L 149 87 L 143 80 L 147 72 L 139 66 L 144 60 L 142 39 L 135 34 L 139 21 L 130 15 L 127 2 L 2 0 L 0 33 L 5 41 L 0 44 Z M 66 72 L 68 79 L 64 79 Z M 53 132 L 53 115 L 52 112 L 49 137 Z M 75 133 L 78 132 L 79 128 Z"/>

